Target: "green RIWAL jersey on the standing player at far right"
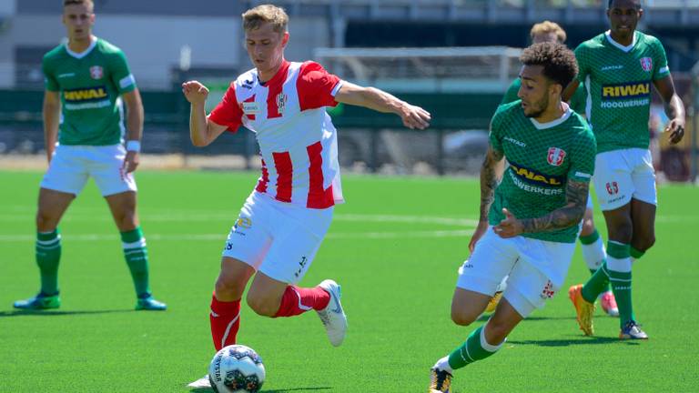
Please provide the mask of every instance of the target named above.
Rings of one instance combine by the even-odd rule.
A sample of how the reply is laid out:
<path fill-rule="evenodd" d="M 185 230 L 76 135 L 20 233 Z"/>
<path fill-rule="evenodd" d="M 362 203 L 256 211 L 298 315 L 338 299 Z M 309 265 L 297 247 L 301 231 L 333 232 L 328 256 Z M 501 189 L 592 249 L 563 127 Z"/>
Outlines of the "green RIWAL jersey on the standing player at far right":
<path fill-rule="evenodd" d="M 609 32 L 575 49 L 587 87 L 587 119 L 597 139 L 597 152 L 631 147 L 647 149 L 651 84 L 670 75 L 665 50 L 652 35 L 635 32 L 623 46 Z"/>

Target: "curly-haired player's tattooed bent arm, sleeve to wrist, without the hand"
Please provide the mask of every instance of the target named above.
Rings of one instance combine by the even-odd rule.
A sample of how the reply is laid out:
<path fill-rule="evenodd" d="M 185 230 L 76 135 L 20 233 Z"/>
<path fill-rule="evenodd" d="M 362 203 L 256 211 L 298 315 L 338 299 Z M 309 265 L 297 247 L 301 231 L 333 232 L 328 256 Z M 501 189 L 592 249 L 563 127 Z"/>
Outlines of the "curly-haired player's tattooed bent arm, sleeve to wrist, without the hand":
<path fill-rule="evenodd" d="M 589 189 L 588 183 L 568 180 L 566 205 L 546 216 L 522 219 L 523 232 L 546 232 L 578 224 L 585 214 Z"/>

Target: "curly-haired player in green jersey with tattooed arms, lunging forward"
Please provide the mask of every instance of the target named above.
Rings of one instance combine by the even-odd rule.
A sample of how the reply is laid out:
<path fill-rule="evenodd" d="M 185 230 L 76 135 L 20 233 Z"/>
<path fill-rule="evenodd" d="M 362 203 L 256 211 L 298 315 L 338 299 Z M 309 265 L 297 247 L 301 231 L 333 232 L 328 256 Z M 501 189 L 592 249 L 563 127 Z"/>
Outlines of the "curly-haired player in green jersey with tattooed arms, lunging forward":
<path fill-rule="evenodd" d="M 547 42 L 525 49 L 521 60 L 522 100 L 498 107 L 491 120 L 481 217 L 459 270 L 451 319 L 471 325 L 509 274 L 507 289 L 488 322 L 431 368 L 431 393 L 450 391 L 453 370 L 494 354 L 562 286 L 587 206 L 594 136 L 561 101 L 577 74 L 575 56 Z"/>

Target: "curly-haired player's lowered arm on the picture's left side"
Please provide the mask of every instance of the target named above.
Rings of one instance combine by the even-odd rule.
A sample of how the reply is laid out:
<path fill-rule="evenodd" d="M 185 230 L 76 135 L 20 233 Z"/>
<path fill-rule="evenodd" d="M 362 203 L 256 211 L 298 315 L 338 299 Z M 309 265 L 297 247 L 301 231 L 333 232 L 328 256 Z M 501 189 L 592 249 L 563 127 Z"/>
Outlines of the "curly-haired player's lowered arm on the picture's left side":
<path fill-rule="evenodd" d="M 502 176 L 502 159 L 504 154 L 492 146 L 488 146 L 483 164 L 481 165 L 481 214 L 478 218 L 478 227 L 471 236 L 469 250 L 473 252 L 476 242 L 485 234 L 488 229 L 488 212 L 491 209 L 492 200 L 495 197 L 495 188 L 500 183 Z"/>

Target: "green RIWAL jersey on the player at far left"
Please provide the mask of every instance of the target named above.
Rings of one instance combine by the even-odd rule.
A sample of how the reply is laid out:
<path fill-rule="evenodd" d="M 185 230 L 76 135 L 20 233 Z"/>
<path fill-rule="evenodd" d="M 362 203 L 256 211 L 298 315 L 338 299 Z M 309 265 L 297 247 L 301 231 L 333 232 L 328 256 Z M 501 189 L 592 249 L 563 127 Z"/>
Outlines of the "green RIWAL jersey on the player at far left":
<path fill-rule="evenodd" d="M 123 111 L 117 98 L 136 88 L 121 49 L 101 38 L 80 54 L 58 45 L 44 55 L 42 68 L 46 90 L 61 97 L 61 145 L 121 143 Z"/>

